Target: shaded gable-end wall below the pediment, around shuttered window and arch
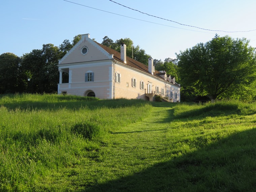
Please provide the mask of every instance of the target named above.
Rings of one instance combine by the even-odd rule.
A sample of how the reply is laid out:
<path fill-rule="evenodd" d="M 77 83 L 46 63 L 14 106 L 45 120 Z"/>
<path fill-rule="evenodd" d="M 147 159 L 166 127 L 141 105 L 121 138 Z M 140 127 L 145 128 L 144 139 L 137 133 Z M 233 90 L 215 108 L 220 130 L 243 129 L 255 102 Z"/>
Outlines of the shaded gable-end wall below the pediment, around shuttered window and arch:
<path fill-rule="evenodd" d="M 79 64 L 69 64 L 59 66 L 61 68 L 69 68 L 69 83 L 58 84 L 58 93 L 66 92 L 71 95 L 86 96 L 85 92 L 91 90 L 95 93 L 95 97 L 100 99 L 113 98 L 113 69 L 112 62 L 99 61 Z M 85 74 L 94 73 L 93 82 L 85 82 Z"/>

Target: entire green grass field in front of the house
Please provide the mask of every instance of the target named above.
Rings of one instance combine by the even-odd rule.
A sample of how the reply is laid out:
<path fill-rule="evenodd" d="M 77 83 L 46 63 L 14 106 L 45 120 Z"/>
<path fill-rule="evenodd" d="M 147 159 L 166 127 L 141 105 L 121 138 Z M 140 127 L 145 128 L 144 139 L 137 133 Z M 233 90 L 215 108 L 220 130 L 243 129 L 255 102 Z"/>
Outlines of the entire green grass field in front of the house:
<path fill-rule="evenodd" d="M 256 103 L 0 104 L 1 191 L 255 191 Z"/>

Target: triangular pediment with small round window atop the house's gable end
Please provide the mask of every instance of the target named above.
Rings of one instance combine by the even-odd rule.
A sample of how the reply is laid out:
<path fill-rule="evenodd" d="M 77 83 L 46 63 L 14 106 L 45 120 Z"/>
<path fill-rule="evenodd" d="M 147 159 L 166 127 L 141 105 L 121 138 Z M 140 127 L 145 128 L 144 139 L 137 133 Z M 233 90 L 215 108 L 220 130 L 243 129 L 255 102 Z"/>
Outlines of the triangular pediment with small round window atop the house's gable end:
<path fill-rule="evenodd" d="M 89 34 L 85 34 L 82 35 L 82 39 L 78 41 L 61 60 L 59 60 L 59 64 L 99 61 L 112 58 L 113 55 L 107 53 L 102 47 L 90 39 Z"/>

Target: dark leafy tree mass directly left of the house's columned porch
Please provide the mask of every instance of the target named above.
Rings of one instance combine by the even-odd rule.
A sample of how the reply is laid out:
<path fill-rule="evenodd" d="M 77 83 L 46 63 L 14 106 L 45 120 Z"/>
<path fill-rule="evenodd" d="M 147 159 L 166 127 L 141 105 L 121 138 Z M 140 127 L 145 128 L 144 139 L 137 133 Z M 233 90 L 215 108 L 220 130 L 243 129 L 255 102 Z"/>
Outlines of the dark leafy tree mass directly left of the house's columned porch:
<path fill-rule="evenodd" d="M 61 52 L 53 44 L 43 44 L 41 50 L 24 54 L 22 69 L 27 74 L 27 92 L 53 93 L 59 82 L 58 59 Z"/>

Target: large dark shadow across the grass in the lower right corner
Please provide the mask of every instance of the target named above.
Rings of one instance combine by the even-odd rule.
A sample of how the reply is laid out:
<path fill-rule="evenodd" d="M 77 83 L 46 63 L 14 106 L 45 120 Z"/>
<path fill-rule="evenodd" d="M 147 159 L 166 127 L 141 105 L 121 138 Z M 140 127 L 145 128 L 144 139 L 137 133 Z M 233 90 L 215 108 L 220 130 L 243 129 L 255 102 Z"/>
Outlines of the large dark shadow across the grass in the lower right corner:
<path fill-rule="evenodd" d="M 93 186 L 81 183 L 87 187 L 79 192 L 255 191 L 255 159 L 256 129 L 251 129 L 128 177 Z"/>

